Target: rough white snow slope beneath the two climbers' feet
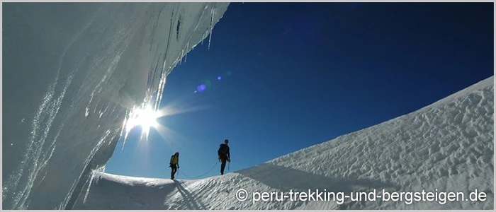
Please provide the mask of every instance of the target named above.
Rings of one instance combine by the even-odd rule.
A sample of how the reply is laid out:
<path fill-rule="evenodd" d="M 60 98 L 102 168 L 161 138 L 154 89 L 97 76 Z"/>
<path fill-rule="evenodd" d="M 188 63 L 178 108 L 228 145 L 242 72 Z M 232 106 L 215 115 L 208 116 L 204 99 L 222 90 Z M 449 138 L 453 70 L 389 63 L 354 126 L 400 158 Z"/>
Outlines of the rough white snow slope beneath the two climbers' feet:
<path fill-rule="evenodd" d="M 492 209 L 494 78 L 255 167 L 198 180 L 102 174 L 78 209 Z M 181 176 L 181 175 L 179 175 Z M 87 188 L 85 188 L 87 189 Z M 238 201 L 236 192 L 249 192 Z M 252 192 L 485 192 L 485 201 L 258 201 Z M 313 190 L 315 191 L 315 190 Z M 287 194 L 287 193 L 286 193 Z M 337 199 L 339 200 L 339 199 Z M 465 200 L 465 199 L 463 199 Z M 440 204 L 439 202 L 444 204 Z"/>

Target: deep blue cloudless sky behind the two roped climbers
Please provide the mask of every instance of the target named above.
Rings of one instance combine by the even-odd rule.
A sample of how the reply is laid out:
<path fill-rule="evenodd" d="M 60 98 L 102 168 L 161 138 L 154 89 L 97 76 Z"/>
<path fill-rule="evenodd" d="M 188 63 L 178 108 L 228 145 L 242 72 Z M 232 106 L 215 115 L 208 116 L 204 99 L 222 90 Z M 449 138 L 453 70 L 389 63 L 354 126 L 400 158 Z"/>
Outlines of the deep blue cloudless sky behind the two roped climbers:
<path fill-rule="evenodd" d="M 162 106 L 201 110 L 106 172 L 169 178 L 179 151 L 176 179 L 203 178 L 224 139 L 232 172 L 413 112 L 493 75 L 493 25 L 492 3 L 232 3 L 167 78 Z"/>

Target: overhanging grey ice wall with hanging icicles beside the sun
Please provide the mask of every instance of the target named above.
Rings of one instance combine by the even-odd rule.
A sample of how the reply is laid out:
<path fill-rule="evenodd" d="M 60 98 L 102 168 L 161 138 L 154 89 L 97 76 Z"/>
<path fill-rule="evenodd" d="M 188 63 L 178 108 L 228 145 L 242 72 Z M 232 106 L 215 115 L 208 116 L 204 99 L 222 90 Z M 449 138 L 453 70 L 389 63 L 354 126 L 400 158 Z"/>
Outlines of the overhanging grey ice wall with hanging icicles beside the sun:
<path fill-rule="evenodd" d="M 130 109 L 159 101 L 227 6 L 4 3 L 2 208 L 72 208 Z"/>

